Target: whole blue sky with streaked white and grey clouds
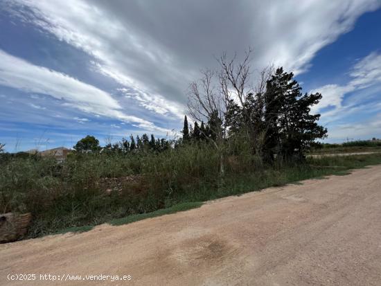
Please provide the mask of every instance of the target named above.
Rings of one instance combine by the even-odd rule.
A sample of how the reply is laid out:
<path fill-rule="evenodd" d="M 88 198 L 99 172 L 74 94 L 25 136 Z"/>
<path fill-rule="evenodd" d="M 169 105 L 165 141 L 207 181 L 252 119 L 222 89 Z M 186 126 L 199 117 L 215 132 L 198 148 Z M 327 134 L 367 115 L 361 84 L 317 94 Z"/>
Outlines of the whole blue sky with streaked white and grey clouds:
<path fill-rule="evenodd" d="M 322 94 L 326 142 L 381 138 L 381 0 L 0 0 L 0 143 L 179 136 L 189 83 L 249 47 L 253 81 Z"/>

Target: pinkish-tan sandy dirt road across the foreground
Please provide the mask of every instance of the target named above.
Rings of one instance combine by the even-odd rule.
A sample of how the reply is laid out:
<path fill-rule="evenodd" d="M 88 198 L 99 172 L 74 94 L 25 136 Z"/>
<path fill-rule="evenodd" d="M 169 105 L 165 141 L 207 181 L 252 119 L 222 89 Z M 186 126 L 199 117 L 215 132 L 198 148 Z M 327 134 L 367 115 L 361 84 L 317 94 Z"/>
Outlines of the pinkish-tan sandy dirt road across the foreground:
<path fill-rule="evenodd" d="M 374 166 L 124 226 L 1 244 L 0 285 L 381 285 L 380 218 Z M 132 280 L 53 283 L 39 274 Z"/>

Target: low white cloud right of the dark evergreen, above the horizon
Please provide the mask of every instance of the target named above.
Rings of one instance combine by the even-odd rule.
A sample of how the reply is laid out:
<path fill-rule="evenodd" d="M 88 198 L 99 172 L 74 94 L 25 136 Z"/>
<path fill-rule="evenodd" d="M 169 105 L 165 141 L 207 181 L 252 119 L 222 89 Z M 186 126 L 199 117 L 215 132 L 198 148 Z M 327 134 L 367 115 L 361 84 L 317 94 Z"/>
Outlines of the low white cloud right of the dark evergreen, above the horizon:
<path fill-rule="evenodd" d="M 329 140 L 381 136 L 381 53 L 373 52 L 358 60 L 348 75 L 350 80 L 345 85 L 326 84 L 311 91 L 323 96 L 312 111 L 321 112 L 326 107 L 333 107 L 321 112 L 321 123 L 328 127 Z M 369 119 L 371 114 L 377 116 Z"/>

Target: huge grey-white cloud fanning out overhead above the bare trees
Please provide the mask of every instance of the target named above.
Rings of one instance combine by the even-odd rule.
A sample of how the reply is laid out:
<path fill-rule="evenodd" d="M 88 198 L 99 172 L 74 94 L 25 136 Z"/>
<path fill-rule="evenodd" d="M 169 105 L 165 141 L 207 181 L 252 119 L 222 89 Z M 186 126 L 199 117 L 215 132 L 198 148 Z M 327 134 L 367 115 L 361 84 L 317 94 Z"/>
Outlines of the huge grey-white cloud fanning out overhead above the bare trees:
<path fill-rule="evenodd" d="M 186 88 L 213 55 L 254 47 L 254 64 L 301 73 L 324 46 L 353 28 L 378 0 L 310 1 L 31 1 L 11 8 L 24 21 L 80 48 L 94 69 L 137 94 L 138 105 L 179 118 Z M 12 7 L 12 5 L 10 5 Z M 339 105 L 341 87 L 335 91 Z"/>

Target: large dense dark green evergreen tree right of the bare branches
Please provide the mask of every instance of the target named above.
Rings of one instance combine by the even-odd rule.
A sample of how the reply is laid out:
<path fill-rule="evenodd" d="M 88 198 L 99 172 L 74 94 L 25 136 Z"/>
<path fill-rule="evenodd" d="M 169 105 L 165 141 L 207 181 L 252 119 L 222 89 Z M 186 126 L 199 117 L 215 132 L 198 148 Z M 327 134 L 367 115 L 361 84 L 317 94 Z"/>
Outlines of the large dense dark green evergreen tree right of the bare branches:
<path fill-rule="evenodd" d="M 267 82 L 265 104 L 265 159 L 274 154 L 283 159 L 302 159 L 305 150 L 327 129 L 318 125 L 320 114 L 310 114 L 310 107 L 321 100 L 320 93 L 301 93 L 293 73 L 276 69 Z"/>

